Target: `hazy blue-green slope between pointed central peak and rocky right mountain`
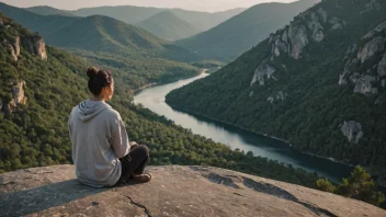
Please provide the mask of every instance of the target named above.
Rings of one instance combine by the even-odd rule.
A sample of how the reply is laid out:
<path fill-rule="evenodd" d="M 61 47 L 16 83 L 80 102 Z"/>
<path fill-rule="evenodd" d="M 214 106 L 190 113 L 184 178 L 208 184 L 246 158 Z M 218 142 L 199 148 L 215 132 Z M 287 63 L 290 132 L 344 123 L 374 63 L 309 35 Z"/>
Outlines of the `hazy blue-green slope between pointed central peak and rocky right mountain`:
<path fill-rule="evenodd" d="M 319 0 L 257 4 L 206 32 L 177 44 L 206 58 L 230 61 L 317 2 Z"/>

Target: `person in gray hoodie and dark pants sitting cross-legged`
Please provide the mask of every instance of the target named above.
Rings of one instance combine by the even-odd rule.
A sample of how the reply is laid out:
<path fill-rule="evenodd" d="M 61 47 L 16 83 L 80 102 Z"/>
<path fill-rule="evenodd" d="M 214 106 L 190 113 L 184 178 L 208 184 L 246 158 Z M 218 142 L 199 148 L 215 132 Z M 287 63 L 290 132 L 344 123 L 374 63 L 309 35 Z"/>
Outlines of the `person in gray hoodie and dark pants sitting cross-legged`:
<path fill-rule="evenodd" d="M 95 187 L 113 186 L 128 178 L 150 181 L 151 175 L 143 174 L 148 148 L 128 141 L 120 113 L 105 103 L 114 93 L 112 73 L 94 68 L 87 73 L 93 95 L 75 106 L 68 121 L 78 180 Z"/>

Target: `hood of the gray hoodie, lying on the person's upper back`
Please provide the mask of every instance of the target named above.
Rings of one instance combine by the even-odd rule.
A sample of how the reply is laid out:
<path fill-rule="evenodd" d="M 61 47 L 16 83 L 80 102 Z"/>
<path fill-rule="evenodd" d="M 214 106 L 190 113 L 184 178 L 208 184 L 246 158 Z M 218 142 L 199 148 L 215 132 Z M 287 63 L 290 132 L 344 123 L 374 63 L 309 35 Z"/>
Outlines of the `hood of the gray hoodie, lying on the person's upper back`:
<path fill-rule="evenodd" d="M 111 108 L 111 106 L 103 101 L 84 100 L 78 106 L 78 117 L 82 122 L 88 122 L 99 115 L 101 112 Z"/>

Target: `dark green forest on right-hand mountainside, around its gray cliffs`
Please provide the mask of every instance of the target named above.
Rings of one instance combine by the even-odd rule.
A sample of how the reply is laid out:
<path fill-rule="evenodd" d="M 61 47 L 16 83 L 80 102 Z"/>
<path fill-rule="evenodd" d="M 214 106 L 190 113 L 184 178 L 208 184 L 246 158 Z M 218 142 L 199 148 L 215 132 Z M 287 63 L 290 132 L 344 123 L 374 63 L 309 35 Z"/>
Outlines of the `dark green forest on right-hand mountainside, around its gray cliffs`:
<path fill-rule="evenodd" d="M 379 85 L 377 94 L 364 95 L 354 93 L 353 84 L 338 84 L 348 48 L 386 20 L 383 13 L 386 2 L 378 1 L 381 10 L 362 13 L 368 2 L 354 0 L 337 4 L 325 0 L 318 7 L 347 25 L 337 31 L 326 27 L 326 37 L 319 43 L 309 36 L 300 59 L 282 54 L 270 60 L 272 46 L 265 39 L 216 73 L 172 91 L 167 95 L 167 103 L 283 138 L 304 152 L 364 165 L 372 174 L 379 175 L 377 181 L 384 184 L 386 89 Z M 379 57 L 381 54 L 374 55 L 377 61 Z M 276 69 L 275 79 L 265 79 L 264 85 L 251 85 L 256 69 L 264 60 Z M 361 69 L 355 71 L 367 73 Z M 276 100 L 280 91 L 286 94 L 285 100 Z M 275 99 L 273 103 L 268 101 L 270 96 Z M 364 136 L 359 144 L 349 142 L 342 134 L 341 126 L 348 121 L 362 125 Z"/>

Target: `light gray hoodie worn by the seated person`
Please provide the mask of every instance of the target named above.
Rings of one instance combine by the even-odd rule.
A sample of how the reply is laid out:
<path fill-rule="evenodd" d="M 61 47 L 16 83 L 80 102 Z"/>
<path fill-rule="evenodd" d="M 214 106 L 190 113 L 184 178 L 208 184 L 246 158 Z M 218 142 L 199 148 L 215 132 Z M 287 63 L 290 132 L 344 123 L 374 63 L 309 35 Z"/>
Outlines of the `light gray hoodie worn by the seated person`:
<path fill-rule="evenodd" d="M 114 185 L 122 172 L 118 158 L 130 147 L 120 113 L 105 102 L 86 100 L 72 108 L 68 128 L 78 180 L 95 187 Z"/>

